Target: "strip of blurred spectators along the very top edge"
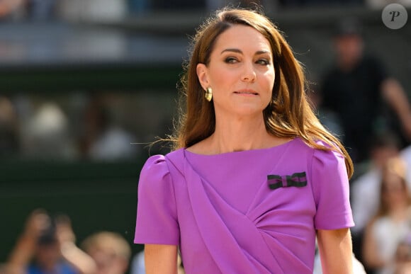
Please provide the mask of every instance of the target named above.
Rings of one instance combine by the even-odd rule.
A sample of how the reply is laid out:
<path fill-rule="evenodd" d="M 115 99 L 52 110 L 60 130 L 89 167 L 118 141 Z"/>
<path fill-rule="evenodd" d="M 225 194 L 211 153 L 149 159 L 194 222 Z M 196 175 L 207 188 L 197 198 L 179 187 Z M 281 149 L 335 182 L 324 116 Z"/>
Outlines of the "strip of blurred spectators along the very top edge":
<path fill-rule="evenodd" d="M 307 6 L 366 6 L 383 8 L 390 3 L 411 6 L 409 0 L 1 0 L 0 18 L 69 21 L 116 21 L 152 11 L 215 10 L 223 6 L 264 6 L 266 11 Z"/>

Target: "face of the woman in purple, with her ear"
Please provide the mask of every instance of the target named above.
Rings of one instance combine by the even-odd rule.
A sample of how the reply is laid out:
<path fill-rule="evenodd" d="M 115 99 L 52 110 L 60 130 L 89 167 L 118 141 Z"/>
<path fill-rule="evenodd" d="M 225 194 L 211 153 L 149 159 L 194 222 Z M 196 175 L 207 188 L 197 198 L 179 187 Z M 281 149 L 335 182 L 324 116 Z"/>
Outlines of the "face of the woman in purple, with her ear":
<path fill-rule="evenodd" d="M 271 101 L 273 62 L 269 41 L 254 28 L 233 25 L 221 33 L 208 66 L 197 66 L 203 89 L 213 89 L 215 114 L 262 115 Z"/>

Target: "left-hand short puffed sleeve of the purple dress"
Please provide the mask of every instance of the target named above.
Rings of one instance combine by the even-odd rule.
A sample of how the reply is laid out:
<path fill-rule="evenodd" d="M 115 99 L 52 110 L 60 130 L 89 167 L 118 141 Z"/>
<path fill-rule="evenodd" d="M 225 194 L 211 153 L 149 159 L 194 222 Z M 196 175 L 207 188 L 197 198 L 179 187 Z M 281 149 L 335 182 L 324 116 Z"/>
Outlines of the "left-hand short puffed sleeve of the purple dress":
<path fill-rule="evenodd" d="M 147 159 L 138 183 L 135 244 L 179 244 L 173 182 L 162 155 Z"/>

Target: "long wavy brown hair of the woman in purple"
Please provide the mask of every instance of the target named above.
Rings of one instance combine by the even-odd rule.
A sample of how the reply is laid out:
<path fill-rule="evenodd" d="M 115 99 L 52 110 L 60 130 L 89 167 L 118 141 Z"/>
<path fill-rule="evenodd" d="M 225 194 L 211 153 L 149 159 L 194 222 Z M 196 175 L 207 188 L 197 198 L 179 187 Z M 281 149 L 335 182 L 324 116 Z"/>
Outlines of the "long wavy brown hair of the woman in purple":
<path fill-rule="evenodd" d="M 341 142 L 322 126 L 313 113 L 305 94 L 303 67 L 295 59 L 282 33 L 261 11 L 224 8 L 216 11 L 198 28 L 191 44 L 191 57 L 181 77 L 181 105 L 176 132 L 171 140 L 174 149 L 191 147 L 209 137 L 215 130 L 214 105 L 205 100 L 198 81 L 197 64 L 208 65 L 218 36 L 232 25 L 247 25 L 259 31 L 269 41 L 273 52 L 275 80 L 272 98 L 264 109 L 267 132 L 276 137 L 300 137 L 310 147 L 337 150 L 345 156 L 347 173 L 354 168 Z M 322 140 L 327 146 L 316 141 Z"/>

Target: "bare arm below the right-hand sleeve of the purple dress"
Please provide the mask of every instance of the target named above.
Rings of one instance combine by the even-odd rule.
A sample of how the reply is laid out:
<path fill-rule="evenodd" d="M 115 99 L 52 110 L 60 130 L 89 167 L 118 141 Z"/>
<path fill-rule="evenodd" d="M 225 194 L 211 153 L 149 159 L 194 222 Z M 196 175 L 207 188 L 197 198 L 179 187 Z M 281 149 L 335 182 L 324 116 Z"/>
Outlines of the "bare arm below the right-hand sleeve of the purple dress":
<path fill-rule="evenodd" d="M 348 228 L 317 231 L 322 273 L 353 273 L 352 242 Z"/>

